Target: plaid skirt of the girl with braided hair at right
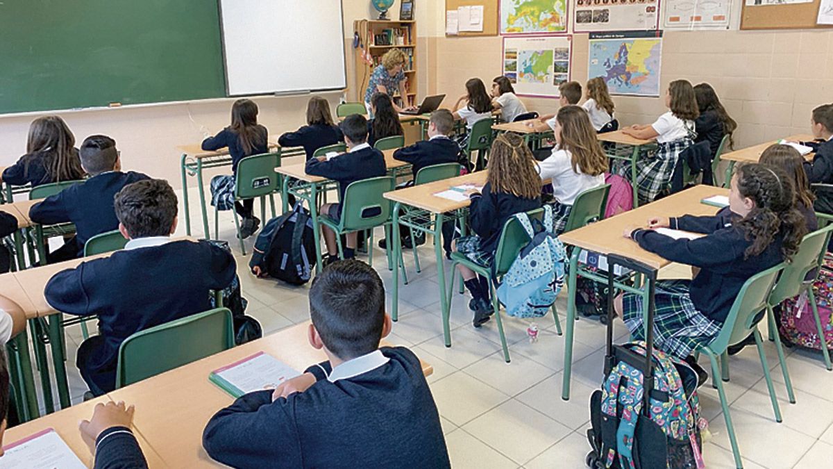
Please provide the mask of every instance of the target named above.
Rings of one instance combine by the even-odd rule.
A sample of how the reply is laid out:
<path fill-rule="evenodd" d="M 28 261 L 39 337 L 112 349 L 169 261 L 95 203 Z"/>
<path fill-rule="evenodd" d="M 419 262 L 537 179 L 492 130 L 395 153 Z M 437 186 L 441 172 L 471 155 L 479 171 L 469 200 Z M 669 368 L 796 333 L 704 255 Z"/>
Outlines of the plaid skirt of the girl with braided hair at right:
<path fill-rule="evenodd" d="M 690 287 L 691 280 L 660 280 L 654 295 L 654 345 L 681 359 L 715 340 L 722 326 L 694 307 Z M 625 294 L 622 320 L 634 340 L 645 340 L 644 310 L 641 295 Z"/>

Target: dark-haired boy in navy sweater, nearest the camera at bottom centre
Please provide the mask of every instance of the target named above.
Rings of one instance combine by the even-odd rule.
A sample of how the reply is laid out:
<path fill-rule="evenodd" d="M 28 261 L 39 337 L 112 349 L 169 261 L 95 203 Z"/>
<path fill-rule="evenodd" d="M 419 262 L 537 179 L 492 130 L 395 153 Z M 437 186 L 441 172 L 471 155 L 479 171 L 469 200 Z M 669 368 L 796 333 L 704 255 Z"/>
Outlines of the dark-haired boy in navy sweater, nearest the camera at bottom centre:
<path fill-rule="evenodd" d="M 272 391 L 234 401 L 208 421 L 202 446 L 234 467 L 449 467 L 420 361 L 382 347 L 391 330 L 371 266 L 329 265 L 309 293 L 310 344 L 329 361 Z"/>

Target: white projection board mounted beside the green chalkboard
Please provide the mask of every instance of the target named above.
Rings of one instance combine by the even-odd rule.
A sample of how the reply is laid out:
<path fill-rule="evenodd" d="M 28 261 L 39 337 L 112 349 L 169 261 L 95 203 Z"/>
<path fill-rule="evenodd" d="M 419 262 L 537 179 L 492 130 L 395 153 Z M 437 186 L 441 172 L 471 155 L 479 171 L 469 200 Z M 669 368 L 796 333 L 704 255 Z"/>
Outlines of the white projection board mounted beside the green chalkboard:
<path fill-rule="evenodd" d="M 347 88 L 341 0 L 220 0 L 229 96 Z"/>

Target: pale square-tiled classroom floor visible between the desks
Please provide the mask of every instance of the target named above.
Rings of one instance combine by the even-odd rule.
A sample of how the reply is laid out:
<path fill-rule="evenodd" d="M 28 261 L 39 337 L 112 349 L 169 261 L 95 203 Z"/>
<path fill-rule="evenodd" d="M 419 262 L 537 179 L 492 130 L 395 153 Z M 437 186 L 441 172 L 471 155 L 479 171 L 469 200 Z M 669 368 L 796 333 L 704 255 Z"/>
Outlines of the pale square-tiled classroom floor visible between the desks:
<path fill-rule="evenodd" d="M 197 205 L 194 204 L 195 212 Z M 211 212 L 209 212 L 211 215 Z M 307 286 L 292 287 L 274 280 L 258 280 L 248 274 L 250 256 L 242 256 L 234 237 L 229 213 L 221 216 L 220 238 L 229 240 L 242 279 L 247 313 L 261 321 L 266 333 L 307 320 Z M 184 224 L 184 217 L 181 217 Z M 197 224 L 195 223 L 196 227 Z M 184 234 L 184 227 L 179 232 Z M 247 252 L 252 240 L 247 240 Z M 375 265 L 387 289 L 392 274 L 381 250 Z M 576 322 L 570 401 L 561 400 L 564 338 L 556 335 L 551 317 L 538 321 L 539 340 L 530 343 L 528 321 L 504 319 L 511 342 L 511 363 L 502 359 L 496 325 L 471 327 L 467 298 L 455 295 L 451 312 L 451 348 L 442 340 L 439 287 L 432 249 L 421 248 L 421 274 L 416 274 L 412 255 L 406 254 L 410 285 L 400 288 L 400 320 L 389 340 L 408 345 L 421 359 L 434 366 L 428 378 L 440 411 L 446 443 L 454 467 L 584 467 L 589 451 L 588 401 L 601 381 L 604 327 L 596 321 Z M 446 269 L 448 265 L 445 266 Z M 672 266 L 663 275 L 687 275 L 683 266 Z M 561 320 L 566 313 L 566 295 L 556 301 Z M 505 316 L 504 316 L 505 317 Z M 616 324 L 618 341 L 626 330 Z M 75 401 L 85 387 L 74 362 L 80 331 L 68 334 L 67 368 Z M 774 346 L 766 343 L 766 358 L 776 378 L 776 392 L 783 423 L 776 423 L 766 395 L 760 361 L 754 347 L 731 358 L 731 382 L 726 383 L 732 419 L 745 459 L 745 467 L 824 467 L 833 452 L 833 372 L 827 372 L 821 356 L 787 350 L 791 377 L 796 386 L 796 404 L 786 400 L 783 379 Z M 703 416 L 711 422 L 712 437 L 704 456 L 709 467 L 734 467 L 725 423 L 716 390 L 701 388 Z M 827 456 L 825 456 L 827 455 Z"/>

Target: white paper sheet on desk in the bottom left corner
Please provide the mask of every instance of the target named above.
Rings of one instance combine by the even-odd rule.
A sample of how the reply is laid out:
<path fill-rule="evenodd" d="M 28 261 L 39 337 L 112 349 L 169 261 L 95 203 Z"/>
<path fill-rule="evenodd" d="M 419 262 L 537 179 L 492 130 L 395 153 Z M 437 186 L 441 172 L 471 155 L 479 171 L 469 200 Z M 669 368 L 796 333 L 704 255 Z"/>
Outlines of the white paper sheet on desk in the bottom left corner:
<path fill-rule="evenodd" d="M 86 469 L 78 456 L 69 449 L 52 428 L 11 443 L 4 447 L 5 456 L 0 459 L 3 469 Z"/>

